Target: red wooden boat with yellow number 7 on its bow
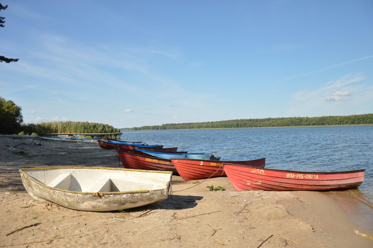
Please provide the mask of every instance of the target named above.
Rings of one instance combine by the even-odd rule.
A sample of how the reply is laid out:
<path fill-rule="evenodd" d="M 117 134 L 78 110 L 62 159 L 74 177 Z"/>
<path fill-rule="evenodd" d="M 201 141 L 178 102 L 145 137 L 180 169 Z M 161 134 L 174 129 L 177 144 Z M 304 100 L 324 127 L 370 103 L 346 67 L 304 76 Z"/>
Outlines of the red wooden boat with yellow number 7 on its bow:
<path fill-rule="evenodd" d="M 121 152 L 118 152 L 118 156 L 126 169 L 165 170 L 178 173 L 171 160 L 168 159 Z"/>

